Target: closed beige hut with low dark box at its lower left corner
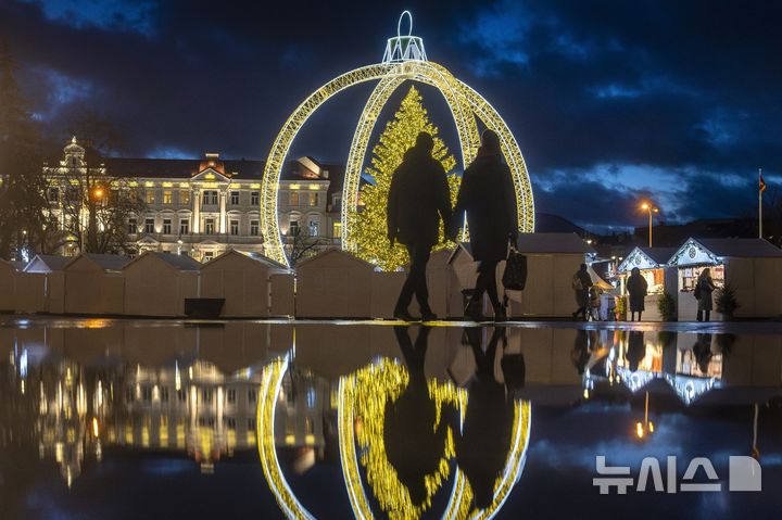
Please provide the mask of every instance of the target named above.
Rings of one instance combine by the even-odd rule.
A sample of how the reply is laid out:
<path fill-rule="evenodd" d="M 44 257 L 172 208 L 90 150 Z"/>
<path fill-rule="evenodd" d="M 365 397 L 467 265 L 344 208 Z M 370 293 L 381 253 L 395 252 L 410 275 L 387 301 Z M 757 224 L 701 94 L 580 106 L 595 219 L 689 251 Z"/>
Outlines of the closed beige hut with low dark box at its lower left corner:
<path fill-rule="evenodd" d="M 293 315 L 293 274 L 258 254 L 228 250 L 201 267 L 201 297 L 224 299 L 220 317 Z"/>

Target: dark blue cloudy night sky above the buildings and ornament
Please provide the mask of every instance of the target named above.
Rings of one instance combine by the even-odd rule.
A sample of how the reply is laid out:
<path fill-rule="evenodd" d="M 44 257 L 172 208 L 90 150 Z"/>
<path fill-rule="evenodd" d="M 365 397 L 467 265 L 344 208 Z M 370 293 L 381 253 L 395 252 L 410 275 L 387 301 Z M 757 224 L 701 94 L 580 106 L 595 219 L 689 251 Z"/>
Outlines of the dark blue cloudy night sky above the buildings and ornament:
<path fill-rule="evenodd" d="M 97 113 L 116 153 L 263 158 L 289 113 L 382 56 L 403 9 L 429 59 L 515 132 L 537 208 L 596 229 L 751 216 L 782 183 L 782 3 L 2 0 L 29 109 L 58 139 Z M 440 3 L 440 4 L 438 4 Z M 368 89 L 330 102 L 293 153 L 342 162 Z M 425 102 L 438 118 L 436 92 Z M 441 121 L 442 119 L 442 121 Z"/>

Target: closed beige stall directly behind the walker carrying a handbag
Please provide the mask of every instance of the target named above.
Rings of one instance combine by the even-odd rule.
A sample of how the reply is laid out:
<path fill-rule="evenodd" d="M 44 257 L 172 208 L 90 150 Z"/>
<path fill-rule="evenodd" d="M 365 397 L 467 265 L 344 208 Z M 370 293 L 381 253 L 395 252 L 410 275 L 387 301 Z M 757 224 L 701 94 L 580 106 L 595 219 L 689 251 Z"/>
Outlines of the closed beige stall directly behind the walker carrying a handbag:
<path fill-rule="evenodd" d="M 576 309 L 572 276 L 588 263 L 594 250 L 576 233 L 521 233 L 518 251 L 527 256 L 527 286 L 524 291 L 507 291 L 508 317 L 570 317 Z M 450 264 L 462 290 L 475 288 L 477 263 L 469 243 L 462 243 L 451 255 Z M 497 290 L 502 297 L 502 274 L 497 267 Z M 491 314 L 484 303 L 484 314 Z"/>

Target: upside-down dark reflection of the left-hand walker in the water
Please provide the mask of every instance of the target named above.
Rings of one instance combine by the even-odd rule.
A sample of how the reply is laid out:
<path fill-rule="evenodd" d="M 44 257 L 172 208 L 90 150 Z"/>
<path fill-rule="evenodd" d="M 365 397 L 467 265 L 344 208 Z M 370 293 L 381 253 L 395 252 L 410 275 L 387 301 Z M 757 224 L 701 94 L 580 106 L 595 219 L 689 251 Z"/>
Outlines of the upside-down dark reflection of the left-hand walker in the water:
<path fill-rule="evenodd" d="M 421 505 L 427 498 L 424 478 L 434 473 L 445 451 L 447 421 L 436 426 L 437 406 L 429 396 L 424 362 L 430 329 L 421 327 L 415 346 L 406 327 L 394 327 L 409 381 L 402 394 L 386 403 L 383 442 L 389 462 L 407 487 L 411 500 Z"/>

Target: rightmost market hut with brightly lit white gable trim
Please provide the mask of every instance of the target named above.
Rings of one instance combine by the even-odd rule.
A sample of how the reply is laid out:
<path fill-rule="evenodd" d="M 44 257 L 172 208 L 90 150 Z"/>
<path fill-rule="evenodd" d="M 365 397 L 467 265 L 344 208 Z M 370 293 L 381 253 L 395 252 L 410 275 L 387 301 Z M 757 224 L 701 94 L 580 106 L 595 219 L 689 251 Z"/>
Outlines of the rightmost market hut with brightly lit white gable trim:
<path fill-rule="evenodd" d="M 777 317 L 782 314 L 782 250 L 762 239 L 688 239 L 669 259 L 678 270 L 679 320 L 694 320 L 697 301 L 693 289 L 705 268 L 717 288 L 729 283 L 739 307 L 735 317 Z M 711 319 L 722 319 L 715 299 Z"/>

